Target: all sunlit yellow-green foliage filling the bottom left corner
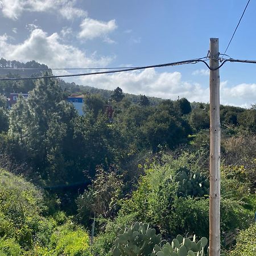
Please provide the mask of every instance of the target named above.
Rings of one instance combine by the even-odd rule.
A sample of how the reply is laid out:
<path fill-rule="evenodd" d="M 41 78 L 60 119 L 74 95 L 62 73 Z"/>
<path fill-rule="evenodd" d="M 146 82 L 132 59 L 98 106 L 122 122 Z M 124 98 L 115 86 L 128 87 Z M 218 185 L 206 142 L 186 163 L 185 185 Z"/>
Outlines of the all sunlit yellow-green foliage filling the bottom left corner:
<path fill-rule="evenodd" d="M 49 216 L 44 195 L 0 170 L 1 255 L 89 255 L 89 236 L 64 213 Z"/>

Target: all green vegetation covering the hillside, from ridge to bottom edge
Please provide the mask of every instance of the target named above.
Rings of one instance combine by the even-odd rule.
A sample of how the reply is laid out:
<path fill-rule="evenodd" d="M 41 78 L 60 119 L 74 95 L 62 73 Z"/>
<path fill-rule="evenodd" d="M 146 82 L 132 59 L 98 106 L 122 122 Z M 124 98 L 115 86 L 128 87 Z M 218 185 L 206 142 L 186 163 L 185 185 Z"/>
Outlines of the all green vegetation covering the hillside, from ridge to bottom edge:
<path fill-rule="evenodd" d="M 7 109 L 14 91 L 30 97 Z M 0 255 L 207 255 L 208 104 L 49 79 L 1 81 L 0 93 Z M 222 250 L 254 255 L 256 110 L 220 115 Z"/>

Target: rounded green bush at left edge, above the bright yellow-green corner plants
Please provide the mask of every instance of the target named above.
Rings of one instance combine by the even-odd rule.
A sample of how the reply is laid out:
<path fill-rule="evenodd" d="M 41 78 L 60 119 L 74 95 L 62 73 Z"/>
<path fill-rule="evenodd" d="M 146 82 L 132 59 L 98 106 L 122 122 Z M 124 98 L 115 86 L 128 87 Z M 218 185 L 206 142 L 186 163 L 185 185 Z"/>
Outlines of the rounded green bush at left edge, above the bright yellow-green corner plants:
<path fill-rule="evenodd" d="M 30 249 L 34 242 L 47 243 L 54 223 L 42 216 L 46 209 L 39 189 L 22 177 L 0 170 L 2 237 L 14 238 L 23 249 Z"/>

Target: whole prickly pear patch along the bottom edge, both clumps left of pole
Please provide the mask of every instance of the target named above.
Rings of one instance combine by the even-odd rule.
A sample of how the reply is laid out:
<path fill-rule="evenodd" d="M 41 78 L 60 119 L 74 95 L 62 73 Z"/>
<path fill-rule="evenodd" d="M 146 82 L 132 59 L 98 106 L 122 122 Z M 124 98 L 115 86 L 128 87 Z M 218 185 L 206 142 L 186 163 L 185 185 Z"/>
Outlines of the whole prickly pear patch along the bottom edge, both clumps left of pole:
<path fill-rule="evenodd" d="M 209 256 L 206 237 L 196 242 L 196 236 L 190 240 L 177 235 L 171 243 L 166 243 L 160 234 L 156 236 L 155 233 L 155 229 L 142 222 L 135 222 L 131 228 L 119 230 L 112 247 L 113 256 Z"/>

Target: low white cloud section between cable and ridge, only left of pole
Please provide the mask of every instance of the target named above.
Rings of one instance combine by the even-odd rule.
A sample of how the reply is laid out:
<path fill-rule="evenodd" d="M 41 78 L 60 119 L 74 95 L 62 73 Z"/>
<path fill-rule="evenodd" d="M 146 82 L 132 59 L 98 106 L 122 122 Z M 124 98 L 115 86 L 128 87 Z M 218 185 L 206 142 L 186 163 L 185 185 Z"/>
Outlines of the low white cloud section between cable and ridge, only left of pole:
<path fill-rule="evenodd" d="M 209 101 L 209 90 L 197 83 L 181 80 L 181 73 L 158 73 L 154 68 L 144 71 L 80 77 L 80 83 L 113 90 L 117 86 L 124 92 L 147 96 L 171 98 L 186 97 L 190 101 Z"/>

